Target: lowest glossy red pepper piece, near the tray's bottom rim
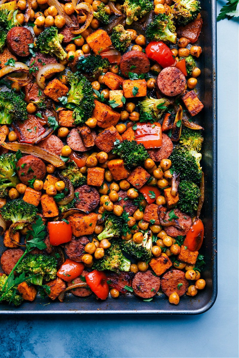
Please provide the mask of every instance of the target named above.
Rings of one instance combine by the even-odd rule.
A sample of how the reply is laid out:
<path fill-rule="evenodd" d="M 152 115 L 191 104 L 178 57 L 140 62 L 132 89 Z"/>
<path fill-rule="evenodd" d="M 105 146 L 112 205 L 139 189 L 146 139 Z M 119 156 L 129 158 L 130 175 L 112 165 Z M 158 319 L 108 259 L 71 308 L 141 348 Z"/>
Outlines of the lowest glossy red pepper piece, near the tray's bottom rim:
<path fill-rule="evenodd" d="M 110 287 L 107 284 L 107 278 L 102 271 L 91 271 L 85 276 L 86 283 L 90 287 L 91 291 L 96 294 L 101 300 L 106 300 L 109 295 Z"/>

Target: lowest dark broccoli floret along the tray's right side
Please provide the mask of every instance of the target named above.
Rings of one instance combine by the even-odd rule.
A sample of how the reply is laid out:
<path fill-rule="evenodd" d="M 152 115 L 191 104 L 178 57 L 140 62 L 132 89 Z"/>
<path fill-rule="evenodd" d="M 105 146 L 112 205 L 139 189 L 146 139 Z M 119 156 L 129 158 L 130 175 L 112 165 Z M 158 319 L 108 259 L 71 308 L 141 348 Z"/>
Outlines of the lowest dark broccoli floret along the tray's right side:
<path fill-rule="evenodd" d="M 199 187 L 189 180 L 182 180 L 178 187 L 178 193 L 178 206 L 181 211 L 192 216 L 193 211 L 197 210 L 198 200 L 201 196 Z"/>

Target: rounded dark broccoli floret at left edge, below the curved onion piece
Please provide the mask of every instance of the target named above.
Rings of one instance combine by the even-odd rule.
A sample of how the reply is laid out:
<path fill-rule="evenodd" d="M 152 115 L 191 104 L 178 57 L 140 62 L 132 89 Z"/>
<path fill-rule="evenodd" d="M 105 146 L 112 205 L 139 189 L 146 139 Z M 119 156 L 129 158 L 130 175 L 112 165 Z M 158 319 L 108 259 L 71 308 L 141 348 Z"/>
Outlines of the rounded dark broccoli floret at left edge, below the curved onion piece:
<path fill-rule="evenodd" d="M 24 122 L 27 119 L 27 103 L 15 92 L 0 92 L 0 124 L 13 121 Z"/>

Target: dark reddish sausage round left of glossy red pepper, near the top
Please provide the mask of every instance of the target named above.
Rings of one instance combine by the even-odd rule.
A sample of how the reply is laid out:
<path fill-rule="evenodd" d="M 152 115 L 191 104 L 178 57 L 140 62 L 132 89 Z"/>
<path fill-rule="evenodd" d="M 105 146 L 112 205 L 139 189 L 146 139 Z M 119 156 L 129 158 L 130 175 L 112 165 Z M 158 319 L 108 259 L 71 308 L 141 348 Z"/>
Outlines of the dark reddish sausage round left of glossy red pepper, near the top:
<path fill-rule="evenodd" d="M 132 69 L 132 66 L 136 66 Z M 129 51 L 120 59 L 120 71 L 129 78 L 129 72 L 137 74 L 149 72 L 150 63 L 147 55 L 140 51 Z"/>

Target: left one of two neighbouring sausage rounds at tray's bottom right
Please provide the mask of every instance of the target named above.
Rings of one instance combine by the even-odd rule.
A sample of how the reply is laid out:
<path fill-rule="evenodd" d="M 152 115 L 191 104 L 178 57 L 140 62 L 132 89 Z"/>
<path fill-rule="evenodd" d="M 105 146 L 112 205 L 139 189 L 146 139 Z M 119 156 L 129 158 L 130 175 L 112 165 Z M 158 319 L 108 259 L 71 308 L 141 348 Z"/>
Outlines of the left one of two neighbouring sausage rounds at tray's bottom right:
<path fill-rule="evenodd" d="M 137 272 L 132 281 L 135 295 L 150 298 L 156 295 L 160 288 L 160 278 L 154 276 L 152 271 Z"/>

